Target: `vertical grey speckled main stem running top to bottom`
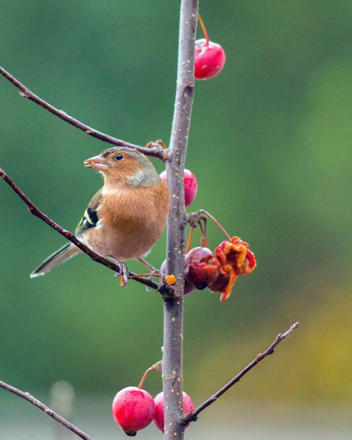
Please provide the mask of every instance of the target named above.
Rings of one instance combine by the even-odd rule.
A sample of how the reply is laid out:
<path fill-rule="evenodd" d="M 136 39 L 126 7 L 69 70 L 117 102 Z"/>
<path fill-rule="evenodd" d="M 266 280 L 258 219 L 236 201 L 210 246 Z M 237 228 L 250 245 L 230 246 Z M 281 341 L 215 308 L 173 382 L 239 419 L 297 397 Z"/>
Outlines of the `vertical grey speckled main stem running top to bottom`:
<path fill-rule="evenodd" d="M 167 273 L 176 276 L 179 298 L 164 300 L 164 440 L 183 439 L 182 353 L 186 212 L 183 170 L 194 95 L 194 52 L 198 0 L 181 0 L 177 87 L 170 148 L 166 163 L 171 203 L 167 230 Z"/>

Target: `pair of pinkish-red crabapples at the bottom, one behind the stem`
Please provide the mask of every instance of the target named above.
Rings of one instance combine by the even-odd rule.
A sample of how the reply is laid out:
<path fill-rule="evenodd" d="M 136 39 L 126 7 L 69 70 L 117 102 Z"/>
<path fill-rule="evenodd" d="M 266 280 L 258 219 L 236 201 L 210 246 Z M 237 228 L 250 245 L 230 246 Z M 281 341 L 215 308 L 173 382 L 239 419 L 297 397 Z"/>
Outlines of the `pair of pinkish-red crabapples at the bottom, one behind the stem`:
<path fill-rule="evenodd" d="M 183 412 L 188 414 L 193 409 L 191 397 L 183 393 Z M 153 399 L 141 388 L 124 388 L 113 399 L 112 416 L 130 437 L 146 428 L 152 420 L 160 431 L 164 431 L 164 395 L 161 392 Z"/>

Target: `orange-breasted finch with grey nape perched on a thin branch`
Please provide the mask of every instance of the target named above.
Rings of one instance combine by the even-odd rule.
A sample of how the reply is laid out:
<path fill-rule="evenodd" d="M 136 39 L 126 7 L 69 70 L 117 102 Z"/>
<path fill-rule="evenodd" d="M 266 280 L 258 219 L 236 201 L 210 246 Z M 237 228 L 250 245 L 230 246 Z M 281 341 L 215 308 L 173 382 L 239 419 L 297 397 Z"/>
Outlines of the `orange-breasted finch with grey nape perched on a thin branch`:
<path fill-rule="evenodd" d="M 102 257 L 120 267 L 135 259 L 152 272 L 143 260 L 163 233 L 168 214 L 169 187 L 147 156 L 127 147 L 114 147 L 84 162 L 104 176 L 104 186 L 90 200 L 76 229 L 77 238 Z M 31 274 L 44 275 L 57 264 L 82 252 L 72 243 L 60 248 Z"/>

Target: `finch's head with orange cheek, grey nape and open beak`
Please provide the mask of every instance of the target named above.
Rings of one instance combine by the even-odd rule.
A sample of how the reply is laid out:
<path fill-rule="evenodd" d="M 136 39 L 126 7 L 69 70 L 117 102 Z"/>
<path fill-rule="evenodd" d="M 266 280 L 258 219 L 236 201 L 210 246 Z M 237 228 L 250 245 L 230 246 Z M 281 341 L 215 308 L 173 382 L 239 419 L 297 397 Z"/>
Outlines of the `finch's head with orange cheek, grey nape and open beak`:
<path fill-rule="evenodd" d="M 160 180 L 147 156 L 128 147 L 112 147 L 84 161 L 87 168 L 100 171 L 106 183 L 147 186 Z"/>

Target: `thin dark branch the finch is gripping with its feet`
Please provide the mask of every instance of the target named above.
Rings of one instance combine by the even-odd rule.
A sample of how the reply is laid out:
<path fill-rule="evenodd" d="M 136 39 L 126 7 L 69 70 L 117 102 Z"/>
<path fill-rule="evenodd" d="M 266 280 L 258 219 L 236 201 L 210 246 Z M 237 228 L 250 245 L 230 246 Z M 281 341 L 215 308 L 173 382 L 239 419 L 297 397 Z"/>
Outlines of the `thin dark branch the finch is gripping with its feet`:
<path fill-rule="evenodd" d="M 4 172 L 4 170 L 0 167 L 0 178 L 2 178 L 14 191 L 15 193 L 22 198 L 24 203 L 28 207 L 28 211 L 30 214 L 33 214 L 34 216 L 38 217 L 39 219 L 43 220 L 46 224 L 48 224 L 51 228 L 55 229 L 59 234 L 61 234 L 63 237 L 65 237 L 69 242 L 76 245 L 79 249 L 81 249 L 85 254 L 87 254 L 93 261 L 103 264 L 106 267 L 109 267 L 109 269 L 113 270 L 114 272 L 120 272 L 119 267 L 107 260 L 106 258 L 100 256 L 96 252 L 94 252 L 92 249 L 90 249 L 88 246 L 86 246 L 84 243 L 82 243 L 80 240 L 78 240 L 77 237 L 75 237 L 72 232 L 67 231 L 63 227 L 61 227 L 58 223 L 56 223 L 54 220 L 51 220 L 47 215 L 45 215 L 35 204 L 21 191 L 21 189 L 15 184 L 15 182 Z M 129 275 L 132 280 L 136 281 L 137 283 L 144 284 L 145 286 L 149 286 L 155 290 L 158 290 L 162 295 L 172 295 L 173 294 L 173 287 L 166 285 L 159 288 L 158 284 L 155 283 L 152 280 L 149 280 L 148 278 L 143 277 L 135 277 L 135 273 L 129 272 Z"/>

